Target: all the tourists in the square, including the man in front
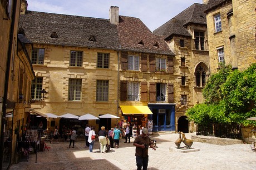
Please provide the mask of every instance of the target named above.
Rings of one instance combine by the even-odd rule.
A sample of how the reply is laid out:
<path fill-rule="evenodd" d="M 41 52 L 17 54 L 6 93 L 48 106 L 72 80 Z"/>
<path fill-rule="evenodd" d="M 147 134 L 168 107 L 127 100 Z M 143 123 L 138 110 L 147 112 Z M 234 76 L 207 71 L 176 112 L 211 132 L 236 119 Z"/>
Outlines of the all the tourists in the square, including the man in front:
<path fill-rule="evenodd" d="M 76 130 L 72 128 L 72 131 L 69 133 L 70 136 L 70 144 L 68 148 L 75 146 L 75 139 L 76 139 Z M 136 147 L 135 149 L 135 157 L 136 157 L 136 165 L 137 169 L 147 169 L 147 164 L 149 162 L 148 157 L 148 148 L 149 146 L 156 150 L 155 146 L 153 146 L 153 143 L 149 136 L 147 136 L 148 130 L 147 128 L 142 128 L 140 126 L 140 135 L 137 136 L 134 140 L 133 145 Z M 58 143 L 58 126 L 55 127 L 55 131 L 53 133 L 53 138 L 50 141 L 50 143 L 53 141 L 53 139 L 56 139 L 56 142 Z M 106 153 L 106 146 L 110 145 L 111 148 L 119 148 L 119 141 L 120 138 L 122 138 L 122 133 L 120 129 L 117 128 L 115 125 L 114 128 L 111 128 L 109 132 L 106 132 L 106 129 L 104 126 L 101 127 L 101 130 L 99 133 L 97 133 L 97 136 L 99 137 L 100 142 L 100 153 Z M 85 147 L 89 147 L 90 153 L 92 153 L 93 145 L 95 143 L 95 128 L 88 126 L 86 124 L 85 128 Z M 129 141 L 129 142 L 128 142 Z M 127 124 L 126 131 L 125 131 L 125 143 L 130 143 L 130 126 Z"/>

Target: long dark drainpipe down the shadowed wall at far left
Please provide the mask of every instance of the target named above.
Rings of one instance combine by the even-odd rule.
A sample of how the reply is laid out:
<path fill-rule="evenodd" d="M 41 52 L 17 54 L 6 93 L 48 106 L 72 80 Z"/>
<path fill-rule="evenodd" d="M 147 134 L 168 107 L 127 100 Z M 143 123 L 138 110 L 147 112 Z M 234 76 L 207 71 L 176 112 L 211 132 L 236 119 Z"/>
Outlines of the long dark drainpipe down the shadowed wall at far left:
<path fill-rule="evenodd" d="M 6 63 L 6 74 L 5 74 L 5 82 L 4 82 L 4 94 L 3 94 L 3 107 L 2 107 L 2 121 L 1 121 L 1 145 L 0 145 L 0 168 L 3 167 L 3 147 L 4 147 L 4 132 L 6 128 L 6 109 L 7 109 L 7 94 L 8 94 L 8 84 L 9 84 L 9 73 L 10 73 L 10 65 L 11 65 L 11 58 L 12 58 L 12 47 L 13 47 L 13 33 L 15 27 L 15 19 L 16 19 L 16 7 L 17 7 L 17 0 L 13 1 L 13 10 L 12 10 L 12 23 L 10 28 L 9 34 L 9 44 L 8 44 L 8 54 L 7 54 L 7 63 Z"/>

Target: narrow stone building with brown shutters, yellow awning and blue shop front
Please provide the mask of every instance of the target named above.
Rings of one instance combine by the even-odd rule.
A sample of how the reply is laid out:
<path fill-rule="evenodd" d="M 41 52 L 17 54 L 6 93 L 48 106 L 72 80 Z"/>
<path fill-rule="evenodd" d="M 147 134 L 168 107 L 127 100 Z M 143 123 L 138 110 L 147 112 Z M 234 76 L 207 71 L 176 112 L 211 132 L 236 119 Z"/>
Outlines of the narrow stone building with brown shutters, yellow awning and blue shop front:
<path fill-rule="evenodd" d="M 110 8 L 110 22 L 120 41 L 119 116 L 144 127 L 153 121 L 152 131 L 175 131 L 174 53 L 139 18 L 119 16 L 118 7 Z"/>

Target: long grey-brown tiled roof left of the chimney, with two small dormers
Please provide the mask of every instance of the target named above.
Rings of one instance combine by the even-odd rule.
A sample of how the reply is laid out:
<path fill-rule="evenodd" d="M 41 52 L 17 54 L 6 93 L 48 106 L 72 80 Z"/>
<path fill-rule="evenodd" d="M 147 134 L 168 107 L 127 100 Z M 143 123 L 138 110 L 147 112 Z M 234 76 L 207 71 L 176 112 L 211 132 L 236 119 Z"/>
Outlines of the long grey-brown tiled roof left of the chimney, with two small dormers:
<path fill-rule="evenodd" d="M 27 11 L 19 28 L 33 43 L 117 49 L 117 26 L 109 19 Z"/>

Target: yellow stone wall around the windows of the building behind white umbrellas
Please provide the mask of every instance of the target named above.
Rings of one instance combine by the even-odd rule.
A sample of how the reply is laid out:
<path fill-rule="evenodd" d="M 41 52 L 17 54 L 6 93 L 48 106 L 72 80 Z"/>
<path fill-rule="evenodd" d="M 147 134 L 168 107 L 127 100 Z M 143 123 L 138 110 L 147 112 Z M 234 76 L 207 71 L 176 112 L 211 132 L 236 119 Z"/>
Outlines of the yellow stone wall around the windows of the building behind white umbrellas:
<path fill-rule="evenodd" d="M 86 47 L 69 47 L 34 44 L 34 48 L 45 49 L 45 62 L 33 64 L 36 77 L 43 77 L 43 88 L 47 91 L 44 101 L 32 104 L 32 108 L 40 109 L 42 113 L 53 113 L 61 116 L 72 113 L 78 116 L 90 113 L 96 117 L 100 114 L 117 113 L 117 53 L 110 49 L 97 49 Z M 28 48 L 32 52 L 31 48 Z M 82 51 L 82 67 L 70 66 L 71 51 Z M 110 54 L 110 67 L 97 68 L 97 53 Z M 68 100 L 69 79 L 82 80 L 80 101 Z M 97 80 L 109 81 L 109 100 L 96 101 Z M 56 121 L 56 125 L 58 122 Z M 98 127 L 95 121 L 90 125 Z M 54 127 L 49 127 L 54 130 Z"/>

